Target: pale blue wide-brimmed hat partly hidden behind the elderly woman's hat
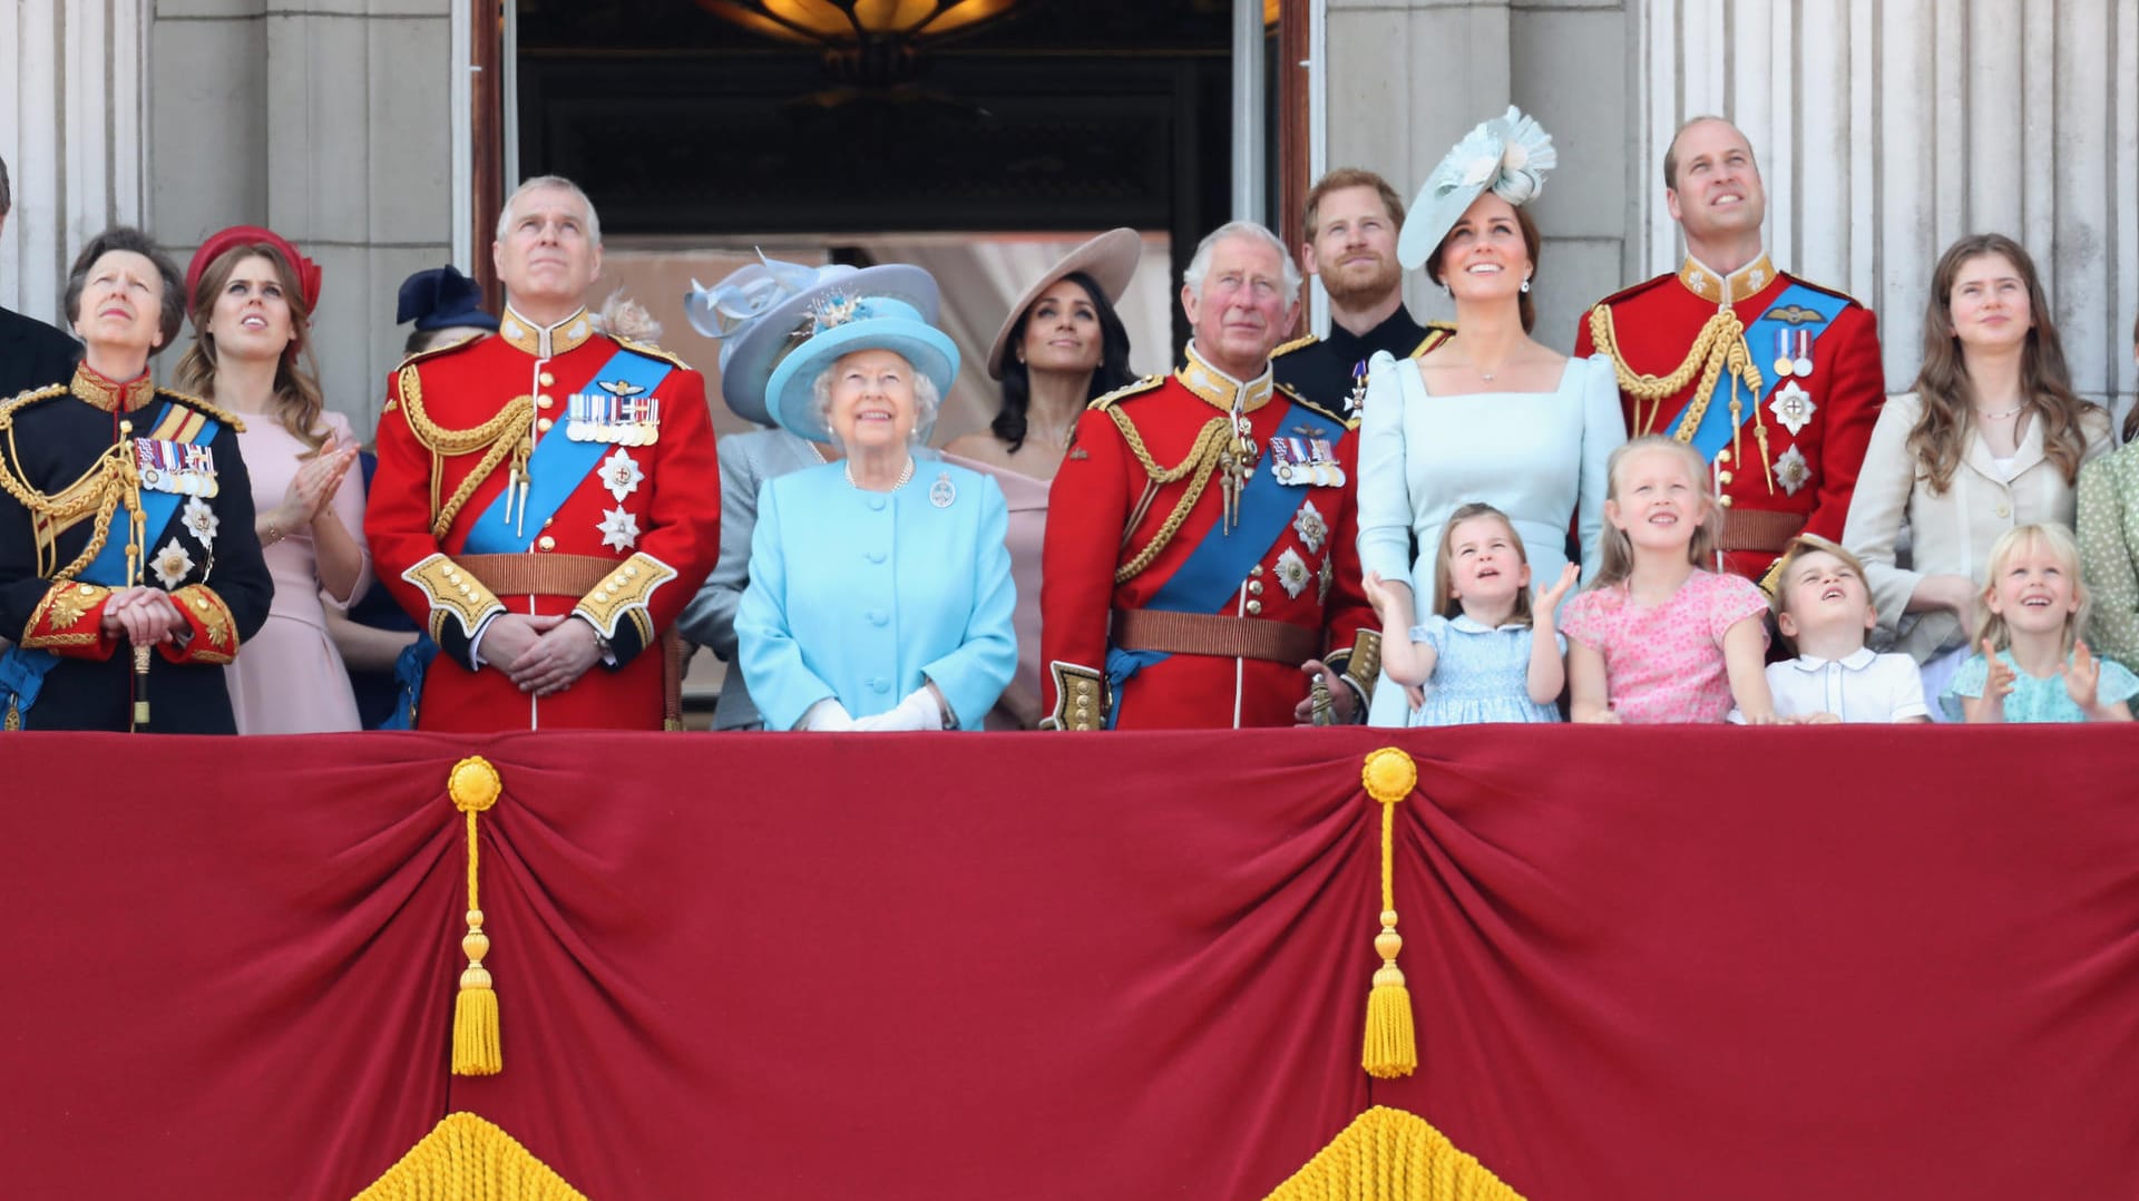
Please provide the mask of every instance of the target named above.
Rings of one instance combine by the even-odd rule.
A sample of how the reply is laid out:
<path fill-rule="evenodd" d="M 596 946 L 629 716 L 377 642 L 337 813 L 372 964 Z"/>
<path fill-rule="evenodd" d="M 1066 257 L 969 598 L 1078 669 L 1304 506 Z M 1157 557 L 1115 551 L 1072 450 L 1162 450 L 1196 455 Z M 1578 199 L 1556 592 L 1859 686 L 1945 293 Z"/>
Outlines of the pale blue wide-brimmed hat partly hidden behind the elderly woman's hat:
<path fill-rule="evenodd" d="M 682 310 L 693 330 L 721 343 L 721 398 L 738 417 L 772 424 L 766 381 L 815 330 L 811 308 L 834 293 L 896 298 L 922 321 L 935 321 L 939 304 L 935 276 L 907 263 L 811 268 L 757 255 L 712 287 L 691 280 Z"/>

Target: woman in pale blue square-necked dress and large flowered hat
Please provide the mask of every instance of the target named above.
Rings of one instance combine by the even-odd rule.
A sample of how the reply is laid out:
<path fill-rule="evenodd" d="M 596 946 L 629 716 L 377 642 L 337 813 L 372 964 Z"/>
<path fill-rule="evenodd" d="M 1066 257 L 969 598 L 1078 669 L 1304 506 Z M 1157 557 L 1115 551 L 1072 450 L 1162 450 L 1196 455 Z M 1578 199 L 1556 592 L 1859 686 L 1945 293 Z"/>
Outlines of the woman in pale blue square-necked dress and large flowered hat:
<path fill-rule="evenodd" d="M 1422 360 L 1369 364 L 1358 557 L 1407 593 L 1420 625 L 1440 599 L 1431 550 L 1448 514 L 1472 501 L 1508 514 L 1538 578 L 1566 567 L 1570 529 L 1583 580 L 1596 567 L 1604 462 L 1626 426 L 1609 360 L 1568 360 L 1529 336 L 1540 238 L 1521 206 L 1553 158 L 1551 137 L 1510 107 L 1442 158 L 1397 242 L 1405 270 L 1425 265 L 1455 298 L 1457 334 Z M 1403 689 L 1380 681 L 1369 724 L 1410 717 Z"/>

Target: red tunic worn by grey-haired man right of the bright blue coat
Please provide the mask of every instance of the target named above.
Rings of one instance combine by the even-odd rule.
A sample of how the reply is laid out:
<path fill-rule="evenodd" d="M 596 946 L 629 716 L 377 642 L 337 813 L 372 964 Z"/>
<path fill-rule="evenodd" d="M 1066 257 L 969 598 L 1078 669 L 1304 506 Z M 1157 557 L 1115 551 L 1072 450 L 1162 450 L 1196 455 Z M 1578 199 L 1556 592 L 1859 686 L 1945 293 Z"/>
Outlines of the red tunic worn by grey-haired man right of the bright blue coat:
<path fill-rule="evenodd" d="M 1230 638 L 1238 649 L 1296 657 L 1174 651 L 1132 674 L 1114 694 L 1106 683 L 1108 649 L 1123 649 L 1125 629 L 1134 629 L 1129 623 L 1147 621 L 1140 610 L 1168 587 L 1204 537 L 1247 537 L 1245 531 L 1219 533 L 1228 471 L 1215 447 L 1232 441 L 1236 394 L 1256 445 L 1256 471 L 1279 467 L 1271 439 L 1292 439 L 1286 447 L 1292 460 L 1298 460 L 1301 445 L 1326 439 L 1335 445 L 1335 462 L 1320 475 L 1288 467 L 1294 477 L 1318 482 L 1283 488 L 1283 512 L 1290 516 L 1277 537 L 1247 548 L 1249 567 L 1226 580 L 1219 604 L 1183 617 L 1202 623 L 1191 640 Z M 1294 405 L 1307 420 L 1288 428 L 1286 413 Z M 1127 430 L 1134 430 L 1142 454 Z M 1343 441 L 1337 441 L 1339 435 Z M 1123 730 L 1290 726 L 1294 704 L 1307 696 L 1301 662 L 1315 655 L 1354 681 L 1360 694 L 1371 689 L 1380 670 L 1380 636 L 1360 587 L 1354 443 L 1345 422 L 1328 409 L 1273 392 L 1268 370 L 1238 383 L 1206 366 L 1194 347 L 1179 373 L 1095 400 L 1078 420 L 1074 450 L 1048 497 L 1040 649 L 1048 668 L 1042 672 L 1042 700 L 1050 717 L 1042 724 L 1095 730 L 1112 713 Z M 1206 447 L 1202 456 L 1198 445 Z M 1179 477 L 1155 477 L 1168 473 Z M 1168 533 L 1176 505 L 1191 488 L 1200 495 Z M 1127 567 L 1136 567 L 1134 574 L 1117 580 L 1117 572 Z M 1117 612 L 1129 617 L 1112 617 Z M 1172 614 L 1155 617 L 1172 621 Z M 1226 621 L 1213 623 L 1213 617 Z M 1129 638 L 1127 647 L 1151 649 L 1153 638 Z"/>

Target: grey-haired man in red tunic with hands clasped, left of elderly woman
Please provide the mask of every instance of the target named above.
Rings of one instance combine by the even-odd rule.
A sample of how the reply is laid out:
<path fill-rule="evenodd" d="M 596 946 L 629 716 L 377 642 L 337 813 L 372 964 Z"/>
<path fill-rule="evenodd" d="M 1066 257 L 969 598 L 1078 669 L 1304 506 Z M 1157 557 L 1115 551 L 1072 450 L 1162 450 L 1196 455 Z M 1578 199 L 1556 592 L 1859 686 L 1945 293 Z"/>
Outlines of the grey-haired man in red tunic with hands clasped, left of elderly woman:
<path fill-rule="evenodd" d="M 719 552 L 706 381 L 595 328 L 595 206 L 528 180 L 492 246 L 498 334 L 404 362 L 364 533 L 438 642 L 419 730 L 659 730 L 661 634 Z"/>

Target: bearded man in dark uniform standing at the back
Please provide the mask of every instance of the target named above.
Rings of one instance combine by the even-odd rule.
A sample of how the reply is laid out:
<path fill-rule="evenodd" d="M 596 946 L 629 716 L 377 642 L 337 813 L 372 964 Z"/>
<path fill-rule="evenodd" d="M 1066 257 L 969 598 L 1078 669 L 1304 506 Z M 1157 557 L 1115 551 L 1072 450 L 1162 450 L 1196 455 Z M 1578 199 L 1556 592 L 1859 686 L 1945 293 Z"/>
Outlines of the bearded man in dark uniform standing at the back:
<path fill-rule="evenodd" d="M 1401 227 L 1403 197 L 1373 171 L 1341 167 L 1307 188 L 1301 265 L 1322 280 L 1330 298 L 1330 332 L 1271 351 L 1277 383 L 1358 417 L 1367 396 L 1367 360 L 1375 351 L 1416 358 L 1448 338 L 1448 325 L 1420 325 L 1403 310 L 1403 272 L 1397 268 Z"/>

